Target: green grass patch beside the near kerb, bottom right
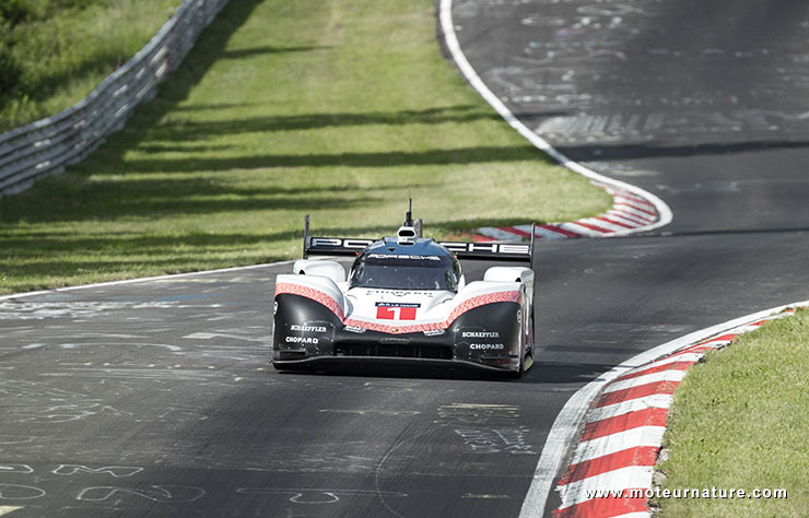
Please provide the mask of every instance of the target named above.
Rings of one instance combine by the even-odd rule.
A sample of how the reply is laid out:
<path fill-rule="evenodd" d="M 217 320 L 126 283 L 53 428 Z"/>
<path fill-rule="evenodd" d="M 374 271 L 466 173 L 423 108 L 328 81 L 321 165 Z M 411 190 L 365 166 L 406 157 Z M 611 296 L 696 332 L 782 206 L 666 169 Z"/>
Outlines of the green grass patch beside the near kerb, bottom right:
<path fill-rule="evenodd" d="M 743 334 L 677 389 L 663 488 L 785 488 L 787 499 L 660 498 L 659 516 L 809 516 L 809 311 Z"/>

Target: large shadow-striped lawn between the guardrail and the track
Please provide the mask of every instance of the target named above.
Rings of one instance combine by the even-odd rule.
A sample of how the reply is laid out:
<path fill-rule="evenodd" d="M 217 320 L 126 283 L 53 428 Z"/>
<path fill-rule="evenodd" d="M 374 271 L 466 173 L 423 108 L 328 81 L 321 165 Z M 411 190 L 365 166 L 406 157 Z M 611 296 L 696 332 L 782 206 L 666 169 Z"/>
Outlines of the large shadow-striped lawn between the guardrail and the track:
<path fill-rule="evenodd" d="M 441 56 L 430 0 L 238 0 L 127 127 L 0 199 L 0 292 L 298 257 L 377 237 L 567 221 L 600 189 L 511 129 Z"/>

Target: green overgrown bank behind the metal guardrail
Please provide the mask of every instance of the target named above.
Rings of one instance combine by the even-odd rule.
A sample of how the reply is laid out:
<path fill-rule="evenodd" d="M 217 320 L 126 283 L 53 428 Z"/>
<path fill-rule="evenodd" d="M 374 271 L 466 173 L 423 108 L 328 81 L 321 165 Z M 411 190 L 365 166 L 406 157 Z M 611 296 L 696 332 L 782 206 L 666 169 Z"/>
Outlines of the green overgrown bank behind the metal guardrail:
<path fill-rule="evenodd" d="M 0 132 L 69 108 L 181 0 L 0 0 Z"/>

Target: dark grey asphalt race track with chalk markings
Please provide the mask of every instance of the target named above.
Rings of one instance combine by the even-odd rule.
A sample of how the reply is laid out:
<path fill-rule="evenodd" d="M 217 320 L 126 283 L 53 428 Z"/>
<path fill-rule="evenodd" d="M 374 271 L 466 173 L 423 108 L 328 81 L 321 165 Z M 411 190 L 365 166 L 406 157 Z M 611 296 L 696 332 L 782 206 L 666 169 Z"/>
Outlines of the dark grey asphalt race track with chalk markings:
<path fill-rule="evenodd" d="M 515 114 L 660 196 L 673 222 L 539 247 L 538 363 L 519 381 L 278 374 L 283 264 L 0 301 L 0 506 L 517 516 L 555 415 L 585 382 L 809 298 L 809 4 L 480 0 L 457 1 L 454 17 Z M 466 267 L 474 278 L 485 264 Z"/>

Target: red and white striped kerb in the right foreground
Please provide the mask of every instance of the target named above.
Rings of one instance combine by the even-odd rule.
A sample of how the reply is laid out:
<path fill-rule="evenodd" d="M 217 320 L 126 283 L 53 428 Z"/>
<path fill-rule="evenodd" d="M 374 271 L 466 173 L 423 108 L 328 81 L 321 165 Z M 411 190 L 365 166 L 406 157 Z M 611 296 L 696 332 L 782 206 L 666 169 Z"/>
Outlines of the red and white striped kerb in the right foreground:
<path fill-rule="evenodd" d="M 573 459 L 558 482 L 562 505 L 555 518 L 649 517 L 646 498 L 629 490 L 652 488 L 675 389 L 685 370 L 711 350 L 794 309 L 739 326 L 720 335 L 685 345 L 637 366 L 607 384 L 585 417 Z M 594 497 L 595 491 L 620 491 L 623 497 Z"/>

